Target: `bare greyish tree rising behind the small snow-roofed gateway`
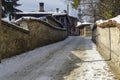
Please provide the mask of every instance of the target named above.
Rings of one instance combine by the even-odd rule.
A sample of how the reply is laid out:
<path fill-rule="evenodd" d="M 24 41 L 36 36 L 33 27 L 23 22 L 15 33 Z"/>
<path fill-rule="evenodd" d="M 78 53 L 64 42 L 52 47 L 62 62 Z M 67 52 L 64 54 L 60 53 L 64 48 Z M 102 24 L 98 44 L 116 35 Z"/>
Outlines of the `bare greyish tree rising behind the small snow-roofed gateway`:
<path fill-rule="evenodd" d="M 98 0 L 81 0 L 78 14 L 81 18 L 80 20 L 95 22 L 98 19 L 97 3 Z"/>

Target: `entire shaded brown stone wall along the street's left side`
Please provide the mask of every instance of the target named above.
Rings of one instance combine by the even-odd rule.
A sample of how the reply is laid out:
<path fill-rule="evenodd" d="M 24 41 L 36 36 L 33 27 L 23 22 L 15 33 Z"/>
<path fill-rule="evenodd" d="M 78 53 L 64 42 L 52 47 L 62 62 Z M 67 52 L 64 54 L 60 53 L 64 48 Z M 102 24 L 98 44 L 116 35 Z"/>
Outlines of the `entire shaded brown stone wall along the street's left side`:
<path fill-rule="evenodd" d="M 40 20 L 24 19 L 19 25 L 21 26 L 2 21 L 0 29 L 2 59 L 67 37 L 65 29 L 53 27 Z"/>

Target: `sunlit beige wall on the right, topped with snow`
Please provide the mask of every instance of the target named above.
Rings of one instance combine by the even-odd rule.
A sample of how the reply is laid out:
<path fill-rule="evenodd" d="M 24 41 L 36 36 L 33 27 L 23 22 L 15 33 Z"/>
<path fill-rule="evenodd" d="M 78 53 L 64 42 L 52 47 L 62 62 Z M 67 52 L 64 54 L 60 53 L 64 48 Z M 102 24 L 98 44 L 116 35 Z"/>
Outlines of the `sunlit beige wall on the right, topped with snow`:
<path fill-rule="evenodd" d="M 120 15 L 106 20 L 97 21 L 93 29 L 93 40 L 96 41 L 99 52 L 120 77 Z"/>

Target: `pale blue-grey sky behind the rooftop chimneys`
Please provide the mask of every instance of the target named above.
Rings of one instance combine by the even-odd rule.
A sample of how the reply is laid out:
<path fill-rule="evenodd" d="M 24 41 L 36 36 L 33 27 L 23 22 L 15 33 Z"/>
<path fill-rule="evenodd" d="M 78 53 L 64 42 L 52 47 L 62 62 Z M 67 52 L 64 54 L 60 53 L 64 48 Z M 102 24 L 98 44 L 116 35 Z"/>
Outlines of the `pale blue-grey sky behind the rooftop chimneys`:
<path fill-rule="evenodd" d="M 67 4 L 64 0 L 19 0 L 18 3 L 22 4 L 17 7 L 18 9 L 28 12 L 28 11 L 38 11 L 39 10 L 39 2 L 44 2 L 45 11 L 55 11 L 56 8 L 59 8 L 60 11 L 67 9 Z M 77 16 L 77 11 L 70 8 L 70 15 Z"/>

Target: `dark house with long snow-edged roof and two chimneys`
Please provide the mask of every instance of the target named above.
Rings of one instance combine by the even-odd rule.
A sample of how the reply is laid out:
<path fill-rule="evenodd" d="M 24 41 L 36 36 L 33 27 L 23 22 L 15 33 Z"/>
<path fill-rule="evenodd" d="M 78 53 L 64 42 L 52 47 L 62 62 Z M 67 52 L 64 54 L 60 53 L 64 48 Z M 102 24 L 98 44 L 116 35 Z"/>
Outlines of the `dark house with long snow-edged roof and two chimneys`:
<path fill-rule="evenodd" d="M 50 24 L 59 24 L 59 27 L 67 28 L 68 35 L 79 35 L 78 29 L 75 27 L 77 24 L 77 18 L 69 16 L 67 13 L 59 12 L 59 8 L 56 8 L 56 12 L 45 12 L 44 3 L 40 3 L 39 12 L 17 12 L 15 13 L 15 20 L 22 17 L 35 17 L 39 19 L 45 19 Z M 51 23 L 52 21 L 52 23 Z M 54 24 L 53 24 L 54 23 Z"/>

